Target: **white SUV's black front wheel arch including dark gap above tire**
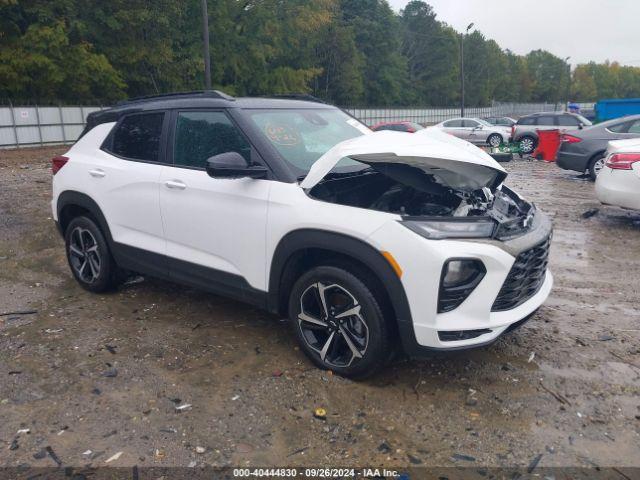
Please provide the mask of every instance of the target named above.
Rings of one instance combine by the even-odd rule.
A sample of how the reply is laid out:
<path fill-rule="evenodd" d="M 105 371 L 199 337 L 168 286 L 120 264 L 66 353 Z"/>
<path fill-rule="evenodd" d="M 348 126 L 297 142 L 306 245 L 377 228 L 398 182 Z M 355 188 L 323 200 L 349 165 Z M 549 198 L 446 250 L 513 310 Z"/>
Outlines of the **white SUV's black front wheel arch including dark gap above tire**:
<path fill-rule="evenodd" d="M 316 229 L 301 229 L 285 235 L 274 251 L 269 272 L 268 309 L 287 314 L 288 294 L 299 276 L 318 265 L 347 263 L 356 273 L 372 274 L 364 278 L 375 294 L 385 296 L 392 325 L 397 327 L 405 350 L 415 343 L 409 302 L 393 267 L 370 244 L 349 235 Z M 385 306 L 381 305 L 384 308 Z M 408 330 L 407 330 L 408 327 Z M 409 335 L 409 345 L 405 337 Z"/>

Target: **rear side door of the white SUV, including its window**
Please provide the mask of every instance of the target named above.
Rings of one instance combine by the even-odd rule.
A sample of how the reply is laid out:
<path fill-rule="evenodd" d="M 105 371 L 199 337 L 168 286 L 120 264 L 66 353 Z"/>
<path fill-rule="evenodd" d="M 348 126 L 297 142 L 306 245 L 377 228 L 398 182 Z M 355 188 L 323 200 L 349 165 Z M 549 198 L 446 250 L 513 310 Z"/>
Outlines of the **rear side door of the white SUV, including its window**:
<path fill-rule="evenodd" d="M 136 257 L 130 247 L 159 255 L 165 252 L 159 179 L 167 129 L 167 112 L 127 115 L 87 169 L 85 187 L 102 209 L 116 249 L 128 257 Z"/>

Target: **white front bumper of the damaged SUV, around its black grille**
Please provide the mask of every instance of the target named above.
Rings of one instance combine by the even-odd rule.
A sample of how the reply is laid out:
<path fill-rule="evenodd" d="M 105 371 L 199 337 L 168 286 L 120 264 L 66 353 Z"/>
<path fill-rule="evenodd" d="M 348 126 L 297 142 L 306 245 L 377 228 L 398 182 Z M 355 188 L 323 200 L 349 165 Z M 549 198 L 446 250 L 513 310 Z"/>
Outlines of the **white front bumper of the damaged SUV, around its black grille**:
<path fill-rule="evenodd" d="M 397 224 L 397 228 L 407 230 Z M 530 317 L 549 296 L 553 276 L 544 271 L 540 287 L 526 300 L 504 311 L 492 311 L 495 299 L 504 284 L 516 257 L 551 235 L 551 223 L 538 212 L 532 228 L 513 240 L 427 240 L 381 229 L 372 240 L 384 241 L 403 269 L 401 278 L 411 319 L 398 319 L 398 327 L 405 352 L 420 356 L 433 350 L 458 350 L 480 347 L 497 340 L 510 327 Z M 404 232 L 402 232 L 404 233 Z M 402 237 L 401 245 L 388 247 L 395 237 Z M 386 239 L 384 238 L 386 237 Z M 397 242 L 397 240 L 396 240 Z M 439 280 L 442 266 L 450 258 L 469 258 L 482 261 L 486 274 L 473 292 L 452 311 L 437 313 Z M 452 339 L 462 332 L 462 339 Z M 471 332 L 470 335 L 466 333 Z"/>

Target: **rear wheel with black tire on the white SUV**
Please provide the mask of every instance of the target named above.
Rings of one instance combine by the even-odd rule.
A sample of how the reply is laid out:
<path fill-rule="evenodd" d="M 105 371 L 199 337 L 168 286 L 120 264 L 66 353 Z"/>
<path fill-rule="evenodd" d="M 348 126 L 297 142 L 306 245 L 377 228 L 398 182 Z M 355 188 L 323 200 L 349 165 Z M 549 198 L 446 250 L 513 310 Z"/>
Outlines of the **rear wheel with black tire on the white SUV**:
<path fill-rule="evenodd" d="M 118 284 L 118 268 L 104 234 L 89 217 L 76 217 L 65 231 L 67 261 L 80 286 L 90 292 L 113 290 Z"/>

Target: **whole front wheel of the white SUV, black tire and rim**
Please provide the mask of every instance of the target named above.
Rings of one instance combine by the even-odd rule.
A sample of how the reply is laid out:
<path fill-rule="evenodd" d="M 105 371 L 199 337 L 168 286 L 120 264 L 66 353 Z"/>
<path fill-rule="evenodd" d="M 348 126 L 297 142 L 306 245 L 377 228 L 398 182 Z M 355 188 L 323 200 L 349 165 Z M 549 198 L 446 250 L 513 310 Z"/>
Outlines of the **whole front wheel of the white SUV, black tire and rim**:
<path fill-rule="evenodd" d="M 303 274 L 291 290 L 289 321 L 311 361 L 338 375 L 373 375 L 391 357 L 392 335 L 379 302 L 364 282 L 342 268 L 320 266 Z"/>

